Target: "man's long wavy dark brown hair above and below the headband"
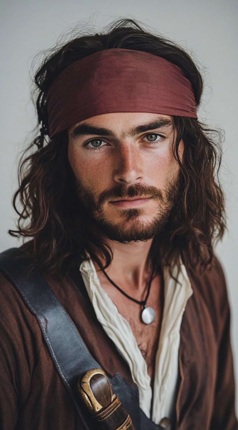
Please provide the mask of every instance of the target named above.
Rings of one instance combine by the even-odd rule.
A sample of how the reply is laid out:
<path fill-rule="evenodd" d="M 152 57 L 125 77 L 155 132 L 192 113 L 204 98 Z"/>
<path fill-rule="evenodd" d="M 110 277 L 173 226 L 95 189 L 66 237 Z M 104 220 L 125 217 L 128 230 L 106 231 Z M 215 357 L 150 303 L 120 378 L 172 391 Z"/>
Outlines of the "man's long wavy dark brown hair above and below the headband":
<path fill-rule="evenodd" d="M 190 55 L 171 40 L 143 28 L 134 19 L 121 18 L 99 33 L 83 34 L 52 49 L 34 77 L 40 132 L 24 152 L 18 169 L 19 188 L 13 206 L 19 215 L 12 236 L 29 238 L 24 247 L 34 267 L 64 276 L 75 264 L 92 259 L 108 267 L 113 253 L 101 239 L 77 197 L 76 181 L 67 158 L 67 130 L 49 138 L 46 96 L 52 82 L 69 64 L 110 48 L 135 49 L 158 55 L 179 66 L 192 83 L 199 106 L 203 80 Z M 214 256 L 214 243 L 226 227 L 224 196 L 218 172 L 222 133 L 199 120 L 171 117 L 176 130 L 173 153 L 180 167 L 180 190 L 162 232 L 154 237 L 151 258 L 170 264 L 176 252 L 206 268 Z M 183 139 L 183 159 L 178 147 Z M 34 151 L 36 148 L 36 151 Z M 27 156 L 26 156 L 27 155 Z M 17 209 L 20 204 L 21 209 Z"/>

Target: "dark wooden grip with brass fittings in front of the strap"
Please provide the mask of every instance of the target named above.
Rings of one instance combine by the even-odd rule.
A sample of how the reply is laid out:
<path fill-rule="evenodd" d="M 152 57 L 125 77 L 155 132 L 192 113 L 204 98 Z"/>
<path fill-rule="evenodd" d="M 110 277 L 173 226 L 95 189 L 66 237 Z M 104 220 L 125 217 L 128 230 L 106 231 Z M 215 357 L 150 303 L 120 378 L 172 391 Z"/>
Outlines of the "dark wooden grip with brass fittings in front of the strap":
<path fill-rule="evenodd" d="M 92 369 L 79 378 L 79 396 L 100 430 L 135 430 L 131 418 L 102 369 Z"/>

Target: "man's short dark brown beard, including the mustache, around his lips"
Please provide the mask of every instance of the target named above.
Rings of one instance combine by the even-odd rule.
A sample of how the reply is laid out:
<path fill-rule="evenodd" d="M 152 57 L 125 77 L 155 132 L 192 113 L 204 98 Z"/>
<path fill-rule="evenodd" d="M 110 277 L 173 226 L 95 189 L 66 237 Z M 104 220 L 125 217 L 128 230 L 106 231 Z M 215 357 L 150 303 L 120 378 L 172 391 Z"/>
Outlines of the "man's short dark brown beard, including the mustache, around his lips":
<path fill-rule="evenodd" d="M 85 227 L 87 226 L 88 231 L 96 228 L 108 239 L 124 244 L 150 240 L 162 232 L 176 206 L 179 185 L 179 177 L 168 181 L 163 191 L 143 184 L 130 186 L 118 184 L 116 187 L 104 190 L 96 197 L 92 190 L 83 186 L 81 181 L 76 179 L 77 195 L 84 212 Z M 107 217 L 104 211 L 106 202 L 135 197 L 152 197 L 153 200 L 156 200 L 158 208 L 152 220 L 141 219 L 143 215 L 146 215 L 146 208 L 118 209 L 119 218 L 122 219 L 121 224 L 113 222 Z"/>

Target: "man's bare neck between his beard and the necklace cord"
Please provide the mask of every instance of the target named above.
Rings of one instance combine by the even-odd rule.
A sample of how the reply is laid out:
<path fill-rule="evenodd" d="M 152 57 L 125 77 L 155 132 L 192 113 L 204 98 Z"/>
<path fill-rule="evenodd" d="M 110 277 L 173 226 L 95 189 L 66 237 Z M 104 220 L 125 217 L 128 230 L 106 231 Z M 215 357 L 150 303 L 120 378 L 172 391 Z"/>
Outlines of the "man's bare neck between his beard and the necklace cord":
<path fill-rule="evenodd" d="M 131 289 L 142 291 L 145 281 L 151 275 L 149 252 L 152 239 L 145 242 L 132 242 L 127 245 L 112 240 L 106 240 L 113 252 L 113 260 L 105 270 L 107 275 L 119 285 L 129 283 Z M 98 276 L 104 276 L 98 264 L 95 263 Z"/>

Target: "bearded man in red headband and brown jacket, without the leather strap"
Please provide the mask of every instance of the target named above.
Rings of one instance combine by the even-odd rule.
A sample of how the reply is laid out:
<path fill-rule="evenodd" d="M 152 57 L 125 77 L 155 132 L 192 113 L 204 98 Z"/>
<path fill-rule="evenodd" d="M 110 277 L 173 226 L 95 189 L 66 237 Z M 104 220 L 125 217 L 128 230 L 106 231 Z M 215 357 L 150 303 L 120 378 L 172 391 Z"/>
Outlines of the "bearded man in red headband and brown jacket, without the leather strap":
<path fill-rule="evenodd" d="M 148 423 L 238 429 L 229 303 L 212 245 L 225 228 L 220 155 L 197 119 L 194 62 L 125 20 L 70 40 L 35 81 L 38 150 L 14 197 L 18 233 L 33 238 L 22 267 L 43 274 L 106 374 L 136 389 Z M 3 429 L 87 428 L 42 322 L 2 271 Z"/>

